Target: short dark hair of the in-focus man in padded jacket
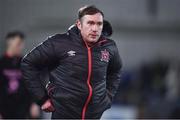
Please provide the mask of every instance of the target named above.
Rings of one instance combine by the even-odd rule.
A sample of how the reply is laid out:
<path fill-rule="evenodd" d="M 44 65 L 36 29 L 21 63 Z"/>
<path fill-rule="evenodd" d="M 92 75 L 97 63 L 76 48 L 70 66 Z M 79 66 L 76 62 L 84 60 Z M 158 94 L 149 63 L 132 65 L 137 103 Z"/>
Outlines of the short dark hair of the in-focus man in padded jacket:
<path fill-rule="evenodd" d="M 86 5 L 86 6 L 79 9 L 78 19 L 81 19 L 85 15 L 94 15 L 96 13 L 100 13 L 104 17 L 103 12 L 101 10 L 99 10 L 98 8 L 96 8 L 96 6 L 94 6 L 94 5 L 88 5 L 87 6 Z"/>

